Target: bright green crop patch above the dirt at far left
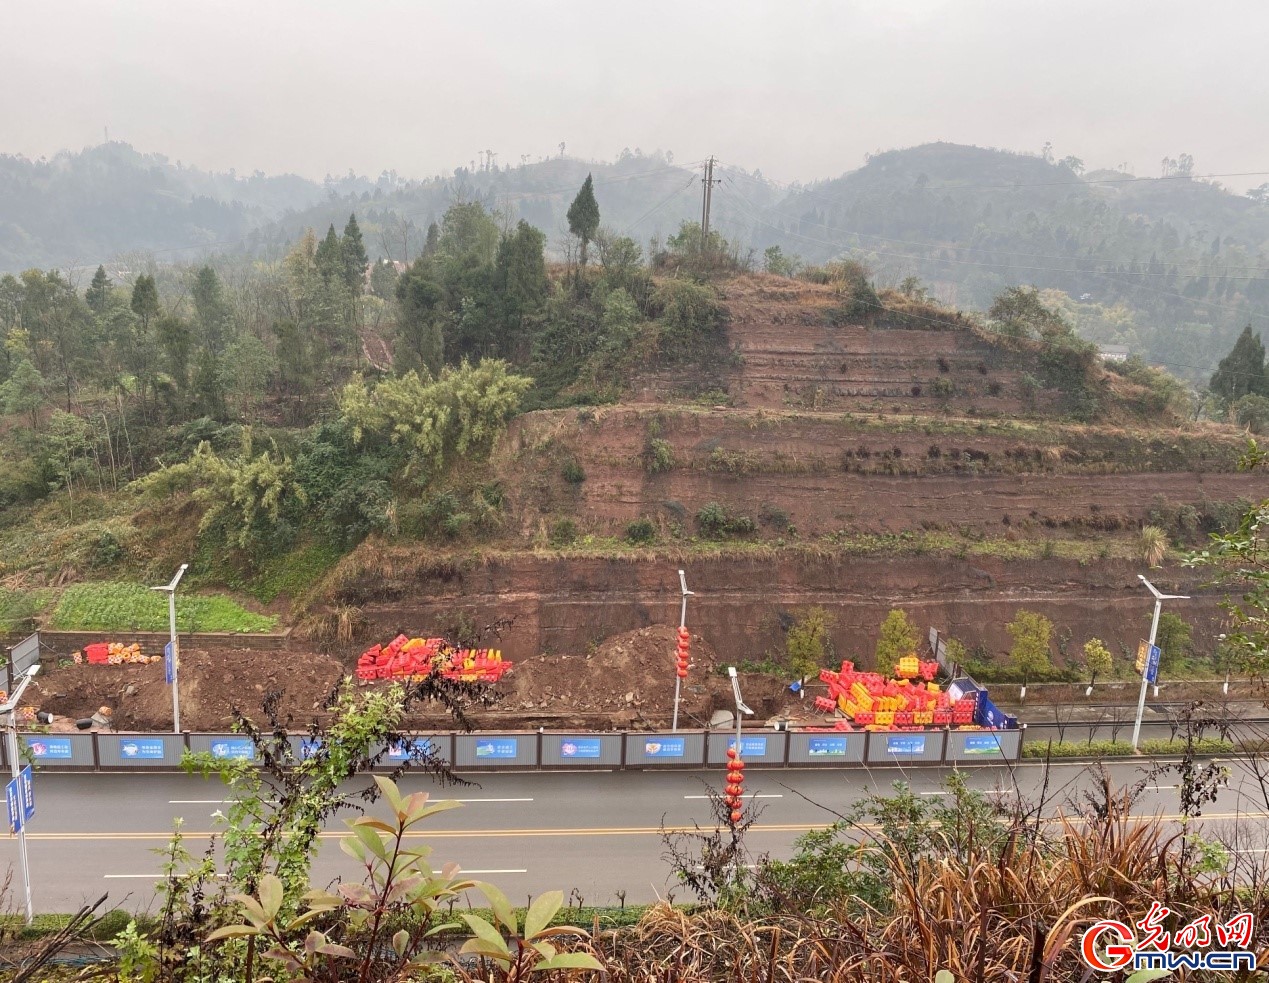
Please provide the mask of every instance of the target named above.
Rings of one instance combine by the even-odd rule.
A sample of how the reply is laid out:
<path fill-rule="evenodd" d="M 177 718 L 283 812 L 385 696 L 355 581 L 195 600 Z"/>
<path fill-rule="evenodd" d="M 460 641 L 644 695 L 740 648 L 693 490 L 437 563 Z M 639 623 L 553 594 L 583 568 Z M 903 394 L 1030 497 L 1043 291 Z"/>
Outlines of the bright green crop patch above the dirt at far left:
<path fill-rule="evenodd" d="M 63 632 L 166 632 L 168 599 L 140 583 L 75 583 L 62 592 L 49 627 Z M 277 618 L 253 614 L 230 597 L 176 596 L 180 632 L 270 632 L 277 627 Z"/>

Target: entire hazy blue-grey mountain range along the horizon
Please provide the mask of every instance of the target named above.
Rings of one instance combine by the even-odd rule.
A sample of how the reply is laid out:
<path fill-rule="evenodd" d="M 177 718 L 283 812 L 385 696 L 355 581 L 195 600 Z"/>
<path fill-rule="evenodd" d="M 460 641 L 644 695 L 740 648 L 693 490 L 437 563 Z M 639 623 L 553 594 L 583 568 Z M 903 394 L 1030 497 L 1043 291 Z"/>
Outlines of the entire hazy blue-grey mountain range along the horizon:
<path fill-rule="evenodd" d="M 637 242 L 699 221 L 699 161 L 623 152 L 457 167 L 406 180 L 353 174 L 242 178 L 173 164 L 124 143 L 49 161 L 0 156 L 0 271 L 95 265 L 152 251 L 192 261 L 343 227 L 357 212 L 372 256 L 409 260 L 456 200 L 480 200 L 567 245 L 565 213 L 586 174 L 605 227 Z M 985 309 L 1006 287 L 1061 290 L 1081 334 L 1202 381 L 1249 321 L 1269 326 L 1269 204 L 1184 175 L 1081 174 L 1074 159 L 954 143 L 872 156 L 806 186 L 780 188 L 721 162 L 712 225 L 755 261 L 769 246 L 807 263 L 851 255 L 883 283 L 919 278 L 940 299 Z"/>

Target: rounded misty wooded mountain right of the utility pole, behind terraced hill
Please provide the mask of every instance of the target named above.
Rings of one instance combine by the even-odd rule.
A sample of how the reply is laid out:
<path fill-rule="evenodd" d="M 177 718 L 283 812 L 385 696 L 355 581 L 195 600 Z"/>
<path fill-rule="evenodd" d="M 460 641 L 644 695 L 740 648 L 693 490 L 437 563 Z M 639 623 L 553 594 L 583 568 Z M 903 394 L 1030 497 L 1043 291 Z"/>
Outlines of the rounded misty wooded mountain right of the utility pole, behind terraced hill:
<path fill-rule="evenodd" d="M 872 157 L 766 211 L 739 175 L 736 198 L 758 246 L 810 261 L 850 251 L 882 280 L 916 275 L 959 307 L 985 309 L 1001 289 L 1060 294 L 1080 332 L 1123 344 L 1204 382 L 1249 321 L 1269 323 L 1269 204 L 1187 176 L 1161 179 L 950 143 Z M 728 176 L 726 170 L 725 176 Z"/>

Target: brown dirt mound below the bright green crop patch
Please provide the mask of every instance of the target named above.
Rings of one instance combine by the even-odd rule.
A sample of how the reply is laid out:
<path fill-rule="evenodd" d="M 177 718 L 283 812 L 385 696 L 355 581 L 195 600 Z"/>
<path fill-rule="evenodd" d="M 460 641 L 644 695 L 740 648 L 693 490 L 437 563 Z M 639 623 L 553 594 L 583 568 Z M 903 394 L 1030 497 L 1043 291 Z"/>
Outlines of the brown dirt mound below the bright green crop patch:
<path fill-rule="evenodd" d="M 280 690 L 282 712 L 303 726 L 320 709 L 344 667 L 329 656 L 312 652 L 259 652 L 249 649 L 183 651 L 180 654 L 180 723 L 185 731 L 222 731 L 231 710 L 240 706 L 258 714 L 264 695 Z M 47 667 L 28 690 L 29 701 L 63 720 L 89 717 L 99 706 L 114 712 L 118 731 L 171 729 L 171 687 L 164 682 L 162 663 Z"/>

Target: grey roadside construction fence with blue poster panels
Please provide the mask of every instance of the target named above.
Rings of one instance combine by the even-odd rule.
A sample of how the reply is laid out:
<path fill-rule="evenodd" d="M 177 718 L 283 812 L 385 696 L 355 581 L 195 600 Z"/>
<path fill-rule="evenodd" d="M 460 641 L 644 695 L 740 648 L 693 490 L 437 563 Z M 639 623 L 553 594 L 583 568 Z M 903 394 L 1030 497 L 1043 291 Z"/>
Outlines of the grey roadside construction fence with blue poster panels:
<path fill-rule="evenodd" d="M 722 767 L 736 738 L 725 731 L 678 733 L 500 733 L 411 734 L 459 769 L 534 771 L 604 769 L 615 771 Z M 23 753 L 46 771 L 173 771 L 185 751 L 213 757 L 254 760 L 255 748 L 241 734 L 129 734 L 114 732 L 18 737 Z M 764 731 L 741 738 L 745 761 L 755 767 L 824 767 L 864 765 L 944 765 L 1016 761 L 1022 731 L 806 732 Z M 310 752 L 308 738 L 291 738 L 297 756 Z M 388 747 L 382 767 L 407 757 Z M 0 761 L 8 765 L 6 755 Z"/>

